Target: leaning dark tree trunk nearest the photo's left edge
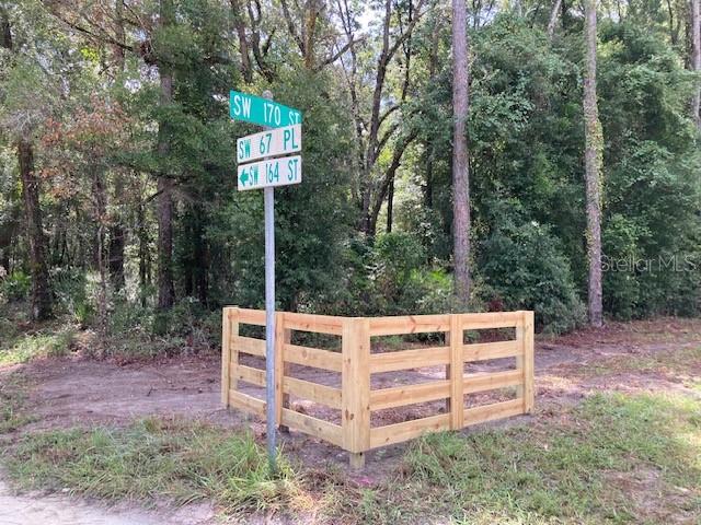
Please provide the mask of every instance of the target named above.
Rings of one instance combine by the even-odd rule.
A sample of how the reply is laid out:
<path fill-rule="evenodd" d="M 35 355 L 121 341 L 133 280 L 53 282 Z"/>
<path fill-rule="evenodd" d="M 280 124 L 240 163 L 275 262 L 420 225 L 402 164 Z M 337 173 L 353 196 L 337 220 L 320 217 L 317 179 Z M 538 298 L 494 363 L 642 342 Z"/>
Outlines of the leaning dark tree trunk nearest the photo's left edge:
<path fill-rule="evenodd" d="M 51 289 L 46 264 L 46 236 L 42 224 L 42 209 L 39 208 L 39 182 L 34 174 L 34 151 L 28 139 L 21 138 L 18 141 L 18 160 L 30 240 L 32 318 L 41 320 L 51 315 Z"/>

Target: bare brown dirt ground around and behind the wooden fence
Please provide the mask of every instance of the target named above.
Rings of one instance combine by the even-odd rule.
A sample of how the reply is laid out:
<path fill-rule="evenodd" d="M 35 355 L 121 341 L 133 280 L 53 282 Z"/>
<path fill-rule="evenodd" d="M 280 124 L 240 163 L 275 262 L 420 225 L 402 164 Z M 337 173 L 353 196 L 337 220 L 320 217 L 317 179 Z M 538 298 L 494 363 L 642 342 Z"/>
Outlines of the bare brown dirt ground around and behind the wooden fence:
<path fill-rule="evenodd" d="M 542 413 L 552 413 L 559 406 L 577 402 L 588 393 L 604 386 L 609 390 L 628 392 L 687 388 L 688 377 L 679 376 L 678 373 L 667 374 L 664 359 L 660 360 L 659 357 L 683 348 L 698 348 L 699 345 L 701 345 L 701 320 L 671 318 L 628 324 L 612 323 L 599 330 L 582 330 L 558 339 L 537 340 L 535 415 L 492 424 L 509 424 L 514 420 L 524 421 Z M 632 358 L 641 362 L 648 360 L 658 365 L 631 368 L 628 364 Z M 486 366 L 491 365 L 487 363 Z M 28 410 L 37 416 L 37 420 L 23 428 L 22 432 L 74 425 L 122 425 L 135 418 L 150 416 L 202 419 L 232 429 L 248 428 L 258 436 L 262 436 L 265 431 L 262 421 L 251 419 L 235 410 L 221 408 L 220 364 L 216 355 L 173 358 L 125 365 L 76 357 L 35 361 L 23 365 L 23 369 L 24 375 L 32 385 Z M 698 381 L 701 376 L 701 362 L 688 363 L 687 369 L 689 377 Z M 9 370 L 0 369 L 0 381 Z M 310 370 L 301 370 L 299 376 L 313 374 Z M 314 381 L 327 384 L 334 384 L 337 381 L 333 374 L 326 374 L 327 377 L 319 374 L 313 376 Z M 395 374 L 378 380 L 381 383 L 374 386 L 387 387 L 398 382 L 422 381 L 422 377 L 426 381 L 441 377 L 443 374 L 445 374 L 443 368 L 407 371 L 403 375 Z M 314 407 L 301 408 L 312 412 L 314 410 Z M 417 408 L 421 413 L 439 409 L 440 407 L 435 404 Z M 394 421 L 398 415 L 390 413 L 388 418 Z M 464 432 L 470 431 L 468 429 Z M 345 466 L 347 462 L 346 454 L 340 448 L 297 432 L 285 434 L 283 446 L 288 454 L 302 459 L 309 466 L 330 462 Z M 356 476 L 363 476 L 369 480 L 382 477 L 397 465 L 405 447 L 406 444 L 399 444 L 371 453 L 366 470 L 363 475 Z M 381 460 L 379 460 L 380 457 Z M 0 485 L 0 509 L 9 508 L 9 498 L 11 497 L 8 495 L 7 487 Z M 28 504 L 22 499 L 18 499 L 15 503 Z M 73 506 L 70 508 L 71 512 Z M 100 514 L 101 512 L 97 511 L 97 515 L 105 516 L 104 512 Z M 131 516 L 126 514 L 126 518 L 119 517 L 117 513 L 117 517 L 101 517 L 102 521 L 96 518 L 80 521 L 68 516 L 62 521 L 46 518 L 36 523 L 66 525 L 180 523 L 174 517 L 164 518 L 162 513 L 153 517 L 148 514 L 138 514 L 140 511 L 134 512 L 136 514 Z M 195 520 L 195 516 L 191 516 L 191 521 L 186 523 L 209 523 L 210 517 L 206 510 L 200 509 L 198 517 Z M 120 518 L 123 521 L 119 521 Z M 3 521 L 0 512 L 0 523 L 13 522 L 7 517 Z M 33 522 L 22 521 L 21 523 Z"/>

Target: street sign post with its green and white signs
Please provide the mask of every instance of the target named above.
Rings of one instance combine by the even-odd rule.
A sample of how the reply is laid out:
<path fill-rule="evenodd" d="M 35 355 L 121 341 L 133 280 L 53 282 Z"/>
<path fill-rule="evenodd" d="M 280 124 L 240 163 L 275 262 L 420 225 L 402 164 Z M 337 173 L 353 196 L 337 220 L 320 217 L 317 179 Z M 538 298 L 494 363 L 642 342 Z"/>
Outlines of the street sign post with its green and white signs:
<path fill-rule="evenodd" d="M 237 187 L 239 190 L 263 188 L 265 215 L 265 418 L 268 462 L 271 469 L 276 471 L 274 191 L 275 186 L 301 183 L 302 159 L 301 155 L 272 158 L 301 151 L 302 114 L 299 109 L 273 102 L 273 94 L 269 91 L 263 94 L 263 98 L 231 91 L 229 103 L 231 118 L 257 124 L 265 128 L 262 133 L 249 135 L 237 141 L 239 164 Z"/>

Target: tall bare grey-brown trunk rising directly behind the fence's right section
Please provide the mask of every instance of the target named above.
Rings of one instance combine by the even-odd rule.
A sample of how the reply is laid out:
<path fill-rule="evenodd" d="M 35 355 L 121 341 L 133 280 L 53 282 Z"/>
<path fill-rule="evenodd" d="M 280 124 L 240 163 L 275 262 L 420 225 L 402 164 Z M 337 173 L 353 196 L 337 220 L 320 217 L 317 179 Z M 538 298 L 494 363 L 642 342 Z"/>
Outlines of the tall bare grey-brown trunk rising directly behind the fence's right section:
<path fill-rule="evenodd" d="M 461 306 L 470 299 L 470 173 L 468 165 L 468 9 L 452 0 L 452 240 L 455 295 Z"/>

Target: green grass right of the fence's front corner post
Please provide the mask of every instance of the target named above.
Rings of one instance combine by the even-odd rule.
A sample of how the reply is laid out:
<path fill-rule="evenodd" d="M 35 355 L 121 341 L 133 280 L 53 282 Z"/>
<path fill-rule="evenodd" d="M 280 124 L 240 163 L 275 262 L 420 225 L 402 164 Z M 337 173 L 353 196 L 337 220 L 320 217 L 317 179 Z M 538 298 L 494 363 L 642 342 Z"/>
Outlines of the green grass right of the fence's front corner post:
<path fill-rule="evenodd" d="M 427 513 L 466 524 L 667 524 L 701 515 L 698 399 L 596 395 L 565 416 L 429 434 L 410 446 L 397 479 L 344 509 L 374 524 Z"/>

